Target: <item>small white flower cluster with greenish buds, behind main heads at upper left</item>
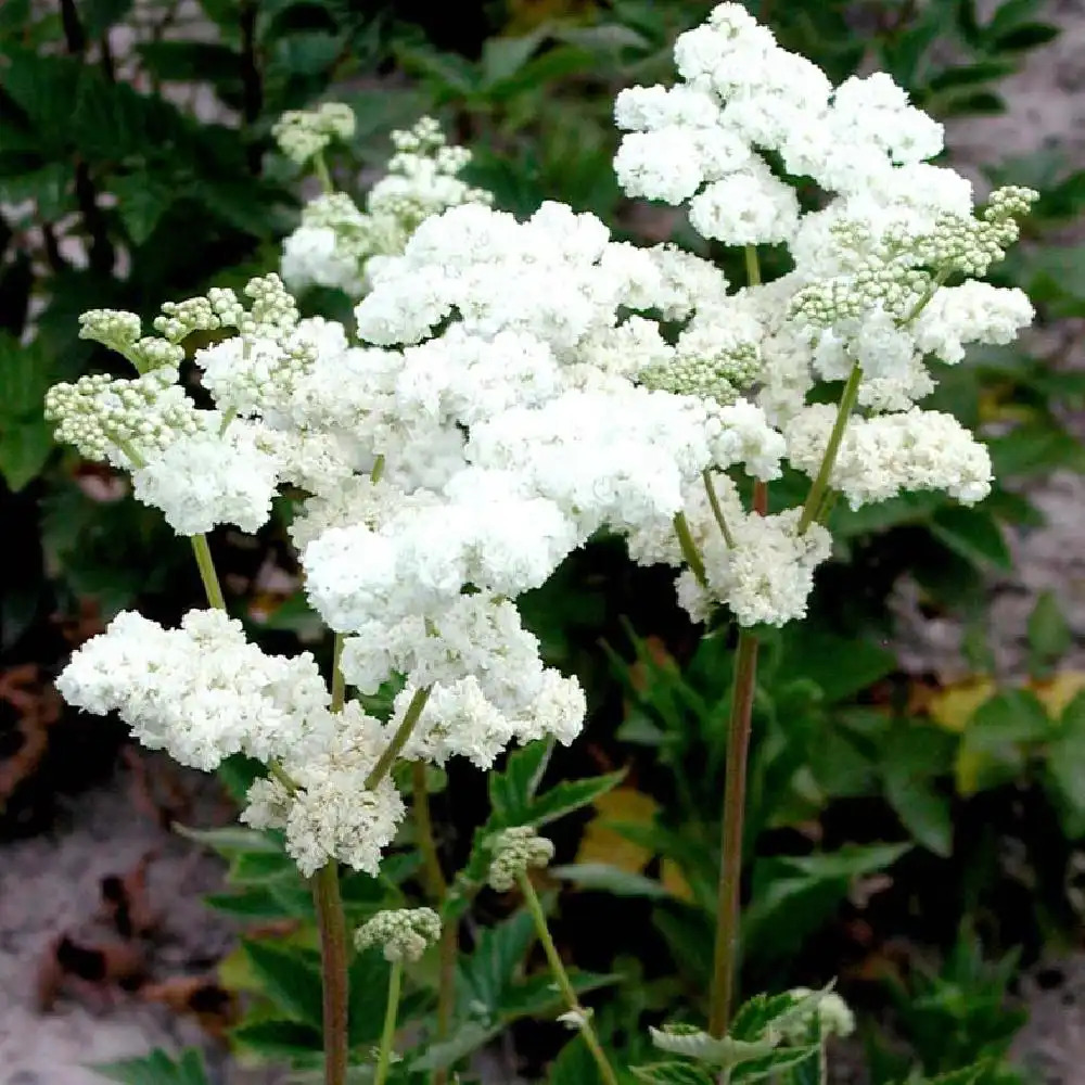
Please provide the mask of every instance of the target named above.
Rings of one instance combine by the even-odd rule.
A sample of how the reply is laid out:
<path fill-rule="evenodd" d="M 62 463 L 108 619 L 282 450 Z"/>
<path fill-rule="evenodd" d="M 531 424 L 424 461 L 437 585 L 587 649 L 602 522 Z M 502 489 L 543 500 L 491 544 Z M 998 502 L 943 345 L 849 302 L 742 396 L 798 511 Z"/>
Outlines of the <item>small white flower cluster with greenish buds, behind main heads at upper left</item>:
<path fill-rule="evenodd" d="M 363 212 L 344 192 L 327 192 L 303 208 L 301 226 L 282 245 L 282 277 L 291 290 L 330 286 L 360 297 L 370 260 L 401 253 L 426 218 L 493 199 L 460 179 L 471 152 L 448 145 L 432 117 L 393 132 L 392 141 L 396 154 Z"/>

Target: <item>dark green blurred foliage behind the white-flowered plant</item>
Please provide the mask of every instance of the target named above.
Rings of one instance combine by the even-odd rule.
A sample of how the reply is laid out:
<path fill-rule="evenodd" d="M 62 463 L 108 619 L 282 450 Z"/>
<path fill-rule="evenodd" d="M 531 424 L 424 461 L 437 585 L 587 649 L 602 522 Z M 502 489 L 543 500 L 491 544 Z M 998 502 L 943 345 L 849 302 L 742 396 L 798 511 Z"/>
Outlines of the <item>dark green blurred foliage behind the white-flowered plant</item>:
<path fill-rule="evenodd" d="M 610 168 L 615 91 L 669 81 L 674 38 L 711 7 L 5 0 L 0 671 L 24 676 L 21 688 L 33 686 L 119 609 L 138 604 L 173 620 L 199 599 L 187 547 L 110 472 L 52 444 L 41 399 L 59 380 L 113 365 L 77 337 L 82 310 L 128 308 L 150 318 L 164 299 L 240 284 L 277 266 L 279 239 L 301 201 L 293 167 L 269 138 L 282 111 L 327 98 L 355 107 L 354 143 L 331 167 L 356 195 L 379 176 L 391 130 L 429 112 L 472 148 L 470 179 L 492 189 L 499 206 L 524 214 L 561 200 L 622 235 L 671 239 L 718 257 L 741 282 L 742 268 L 709 252 L 672 209 L 625 201 Z M 1001 111 L 1003 81 L 1058 34 L 1039 0 L 1001 0 L 982 17 L 975 0 L 750 7 L 833 79 L 886 69 L 943 118 Z M 988 179 L 1042 192 L 1000 281 L 1030 293 L 1042 331 L 1085 317 L 1085 247 L 1064 241 L 1085 209 L 1085 171 L 1054 150 L 999 164 Z M 783 270 L 778 253 L 764 258 L 768 273 Z M 310 312 L 349 319 L 345 298 L 315 293 L 304 303 Z M 1003 1009 L 1017 967 L 1006 955 L 1033 961 L 1069 940 L 1081 918 L 1074 871 L 1085 835 L 1085 677 L 1059 671 L 1070 630 L 1056 598 L 1042 597 L 1027 628 L 1030 674 L 1013 682 L 993 673 L 984 638 L 990 576 L 1012 575 L 1004 528 L 1042 522 L 1030 484 L 1056 469 L 1085 468 L 1085 449 L 1062 422 L 1085 403 L 1085 371 L 1068 368 L 1061 348 L 1037 346 L 1057 339 L 979 349 L 937 374 L 929 406 L 952 410 L 987 441 L 995 493 L 968 510 L 940 495 L 859 512 L 837 508 L 840 541 L 821 571 L 812 620 L 780 633 L 765 652 L 748 826 L 745 979 L 751 990 L 779 988 L 817 985 L 840 971 L 845 994 L 871 1011 L 865 1041 L 873 1081 L 899 1080 L 909 1068 L 933 1075 L 983 1057 L 992 1060 L 983 1080 L 1016 1080 L 1001 1061 L 1019 1023 Z M 797 485 L 784 480 L 779 500 L 790 502 Z M 220 532 L 214 547 L 231 608 L 254 636 L 280 651 L 311 641 L 312 615 L 281 524 L 256 540 Z M 902 671 L 888 600 L 905 574 L 928 615 L 952 615 L 970 630 L 969 681 L 939 687 Z M 633 969 L 640 978 L 613 988 L 600 1008 L 609 1041 L 634 1050 L 634 1022 L 660 1020 L 705 987 L 728 631 L 700 639 L 674 603 L 669 574 L 631 566 L 605 539 L 523 603 L 550 661 L 580 676 L 591 703 L 584 740 L 554 755 L 551 777 L 625 771 L 598 794 L 589 788 L 554 837 L 566 886 L 563 945 L 598 975 Z M 310 647 L 327 654 L 326 644 Z M 85 725 L 56 713 L 31 718 L 25 699 L 0 693 L 3 826 L 26 831 L 41 824 L 40 804 L 55 782 L 78 779 L 71 751 L 79 751 L 80 771 L 105 771 L 116 740 L 103 740 L 107 752 L 88 762 Z M 41 740 L 46 728 L 50 741 Z M 489 816 L 494 788 L 471 773 L 454 768 L 451 776 L 456 819 L 446 820 L 442 846 L 458 868 L 470 858 L 474 825 Z M 449 813 L 439 795 L 436 806 Z M 226 910 L 255 909 L 250 914 L 264 919 L 305 912 L 292 867 L 276 866 L 278 858 L 242 863 L 237 855 L 247 853 L 237 841 L 224 850 L 247 901 L 224 897 Z M 404 867 L 390 878 L 411 876 Z M 254 903 L 244 896 L 254 885 L 279 892 L 270 904 Z M 607 922 L 613 894 L 623 898 L 627 923 Z M 488 907 L 500 916 L 498 904 Z M 312 965 L 304 945 L 286 963 L 248 946 L 241 971 L 251 981 L 253 969 L 263 969 L 265 992 L 269 982 L 276 990 L 268 974 L 273 981 L 277 969 L 289 979 Z M 497 954 L 499 965 L 486 967 L 503 969 L 506 979 L 526 952 L 511 930 L 475 947 Z M 470 978 L 470 961 L 463 968 Z M 231 982 L 245 985 L 237 967 Z M 279 975 L 283 983 L 289 987 Z M 523 1006 L 522 995 L 500 987 L 487 997 Z M 265 1007 L 242 1026 L 239 1043 L 278 1056 L 292 1044 L 304 1050 L 310 1009 L 288 1005 L 292 1024 L 276 1033 Z M 536 1043 L 536 1026 L 522 1027 L 527 1050 L 552 1050 L 560 1037 L 544 1029 Z M 562 1074 L 590 1081 L 575 1047 L 554 1064 L 554 1082 Z"/>

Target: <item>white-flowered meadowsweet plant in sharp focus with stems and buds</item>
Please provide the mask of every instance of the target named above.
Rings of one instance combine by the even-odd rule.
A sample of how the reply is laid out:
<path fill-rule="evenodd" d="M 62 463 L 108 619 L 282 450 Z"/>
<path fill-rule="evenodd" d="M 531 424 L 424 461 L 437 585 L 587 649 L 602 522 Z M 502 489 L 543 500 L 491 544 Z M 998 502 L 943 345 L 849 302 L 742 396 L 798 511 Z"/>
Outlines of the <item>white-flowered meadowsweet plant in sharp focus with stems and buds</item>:
<path fill-rule="evenodd" d="M 210 604 L 179 629 L 120 614 L 59 687 L 74 704 L 119 712 L 140 741 L 183 764 L 212 769 L 244 753 L 266 765 L 241 818 L 279 830 L 312 879 L 328 1085 L 343 1085 L 347 1067 L 339 867 L 381 870 L 407 813 L 400 763 L 459 756 L 488 769 L 512 742 L 576 738 L 584 694 L 544 665 L 516 599 L 601 529 L 624 536 L 635 561 L 679 570 L 678 599 L 694 620 L 723 612 L 739 629 L 709 1020 L 659 1032 L 672 1058 L 636 1075 L 819 1077 L 825 1035 L 846 1026 L 828 991 L 760 996 L 732 1012 L 758 633 L 804 617 L 838 495 L 853 508 L 917 489 L 968 503 L 986 495 L 984 447 L 917 401 L 933 387 L 928 356 L 954 363 L 965 344 L 1006 343 L 1029 323 L 1020 291 L 976 277 L 1016 239 L 1034 194 L 999 190 L 976 215 L 970 183 L 928 163 L 941 127 L 892 79 L 833 87 L 738 4 L 684 34 L 675 60 L 678 85 L 618 95 L 617 178 L 630 196 L 688 205 L 702 237 L 742 246 L 744 286 L 673 246 L 616 242 L 560 204 L 523 222 L 492 209 L 456 177 L 463 154 L 423 122 L 397 137 L 387 199 L 362 213 L 326 193 L 285 246 L 288 279 L 355 292 L 356 342 L 340 324 L 302 319 L 271 275 L 250 283 L 246 301 L 217 290 L 165 306 L 157 336 L 128 314 L 87 314 L 84 334 L 139 375 L 50 394 L 60 435 L 130 472 L 137 498 L 191 537 Z M 319 163 L 347 128 L 326 107 L 286 118 L 280 138 Z M 800 206 L 796 178 L 821 189 L 816 209 Z M 762 283 L 761 245 L 786 246 L 793 269 Z M 180 344 L 195 330 L 219 336 L 194 356 L 210 408 L 178 383 Z M 830 391 L 834 404 L 810 401 Z M 802 503 L 770 512 L 784 462 L 810 486 Z M 752 480 L 749 507 L 740 473 Z M 267 655 L 246 641 L 205 540 L 218 524 L 259 528 L 288 484 L 308 495 L 291 532 L 309 602 L 335 634 L 330 690 L 308 654 Z M 387 718 L 347 695 L 390 679 L 399 691 Z M 419 799 L 416 788 L 425 822 L 424 790 Z M 564 1019 L 599 1074 L 627 1076 L 546 931 L 528 870 L 549 846 L 528 829 L 496 828 L 492 883 L 524 895 Z M 488 861 L 476 850 L 450 882 L 439 864 L 434 872 L 454 955 Z M 383 940 L 404 966 L 444 931 L 409 911 L 360 936 Z M 376 1081 L 404 1067 L 390 1054 L 403 975 L 393 968 Z M 438 1036 L 454 996 L 451 980 L 442 984 Z M 446 1080 L 439 1059 L 412 1065 Z"/>

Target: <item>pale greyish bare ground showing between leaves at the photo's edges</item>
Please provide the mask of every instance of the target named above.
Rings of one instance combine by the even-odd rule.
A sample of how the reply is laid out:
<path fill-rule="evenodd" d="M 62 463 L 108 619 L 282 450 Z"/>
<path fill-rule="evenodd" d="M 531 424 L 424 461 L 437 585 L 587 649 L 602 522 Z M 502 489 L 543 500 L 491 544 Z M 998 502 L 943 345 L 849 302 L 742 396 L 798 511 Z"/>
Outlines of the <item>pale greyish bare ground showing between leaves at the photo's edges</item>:
<path fill-rule="evenodd" d="M 1005 116 L 954 124 L 949 142 L 973 174 L 980 165 L 1057 142 L 1077 167 L 1085 166 L 1085 0 L 1055 0 L 1048 17 L 1065 33 L 1033 55 L 1005 88 Z M 978 176 L 978 175 L 976 175 Z M 1085 343 L 1085 340 L 1083 340 Z M 1076 363 L 1085 365 L 1078 348 Z M 1085 434 L 1085 420 L 1075 420 Z M 1010 542 L 1018 575 L 993 584 L 995 651 L 1005 673 L 1020 669 L 1024 622 L 1039 591 L 1058 590 L 1078 644 L 1068 664 L 1085 666 L 1085 480 L 1058 474 L 1030 496 L 1048 523 Z M 902 592 L 905 659 L 916 671 L 952 678 L 963 667 L 960 630 L 927 622 Z M 196 1025 L 136 996 L 112 1006 L 61 997 L 51 1012 L 36 1007 L 39 962 L 61 932 L 93 940 L 100 880 L 133 869 L 148 853 L 149 896 L 163 911 L 163 926 L 149 942 L 153 978 L 199 974 L 230 945 L 233 933 L 200 904 L 220 877 L 217 863 L 194 852 L 136 812 L 130 774 L 107 788 L 72 800 L 51 832 L 3 847 L 0 858 L 0 1085 L 94 1085 L 89 1063 L 125 1058 L 154 1046 L 177 1049 L 202 1042 Z M 221 820 L 214 788 L 194 774 L 178 777 L 192 794 L 192 820 Z M 1056 962 L 1044 983 L 1029 981 L 1033 1016 L 1018 1045 L 1023 1063 L 1051 1085 L 1085 1083 L 1085 957 Z M 1056 981 L 1051 981 L 1056 976 Z M 263 1073 L 227 1072 L 213 1056 L 219 1081 L 268 1085 Z"/>

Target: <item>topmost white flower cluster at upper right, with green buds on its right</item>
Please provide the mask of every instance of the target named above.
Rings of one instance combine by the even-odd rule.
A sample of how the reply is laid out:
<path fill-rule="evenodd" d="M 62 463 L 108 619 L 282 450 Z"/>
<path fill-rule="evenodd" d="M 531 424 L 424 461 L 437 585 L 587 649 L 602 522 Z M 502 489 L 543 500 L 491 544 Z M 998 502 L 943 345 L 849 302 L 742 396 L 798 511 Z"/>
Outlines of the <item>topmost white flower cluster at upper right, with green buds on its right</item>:
<path fill-rule="evenodd" d="M 614 161 L 620 183 L 629 195 L 688 203 L 705 238 L 782 242 L 795 270 L 731 306 L 732 316 L 744 310 L 740 328 L 752 316 L 760 330 L 736 336 L 725 330 L 732 322 L 712 321 L 698 353 L 664 373 L 669 384 L 648 374 L 653 386 L 726 401 L 756 382 L 762 405 L 783 421 L 815 380 L 844 380 L 858 365 L 861 405 L 906 410 L 933 387 L 924 355 L 959 361 L 962 344 L 1008 342 L 1030 322 L 1019 291 L 940 288 L 1000 259 L 1035 193 L 1001 189 L 975 217 L 971 184 L 928 163 L 942 150 L 942 126 L 888 75 L 834 88 L 738 3 L 681 35 L 675 62 L 677 86 L 617 97 L 628 132 Z M 802 214 L 781 169 L 813 179 L 824 206 Z"/>

